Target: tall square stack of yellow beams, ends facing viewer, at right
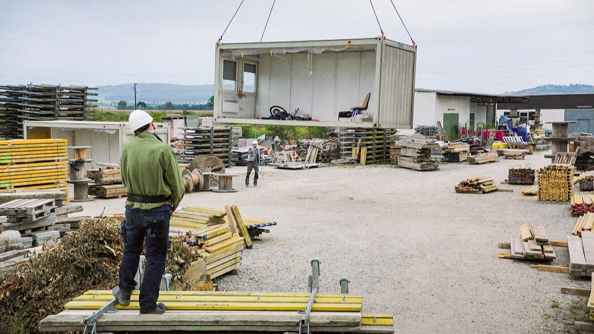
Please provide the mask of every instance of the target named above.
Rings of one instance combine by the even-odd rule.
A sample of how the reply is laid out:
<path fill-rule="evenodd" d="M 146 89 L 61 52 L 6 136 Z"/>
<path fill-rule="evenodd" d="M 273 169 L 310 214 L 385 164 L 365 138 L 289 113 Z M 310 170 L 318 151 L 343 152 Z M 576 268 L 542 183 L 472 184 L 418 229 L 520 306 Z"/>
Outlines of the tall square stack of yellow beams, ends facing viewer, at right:
<path fill-rule="evenodd" d="M 571 165 L 551 163 L 538 172 L 539 201 L 570 201 L 573 195 L 573 172 Z"/>

